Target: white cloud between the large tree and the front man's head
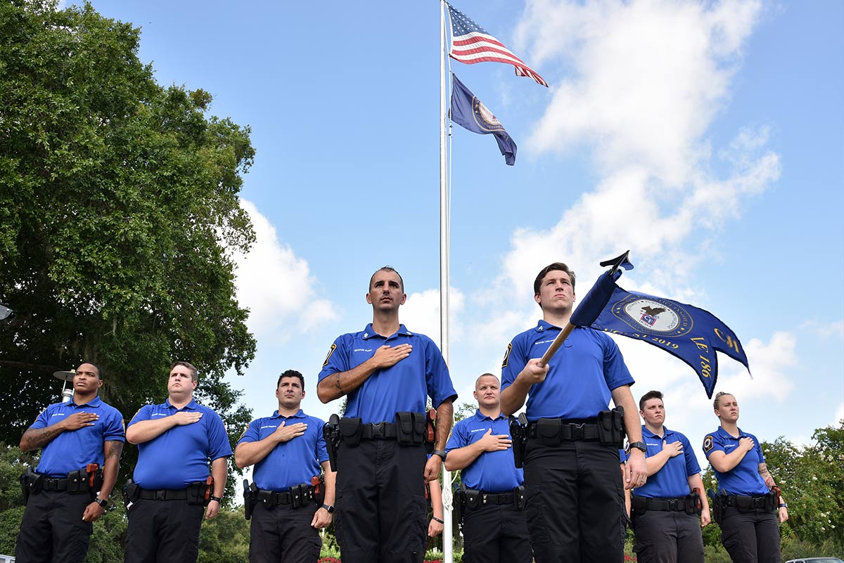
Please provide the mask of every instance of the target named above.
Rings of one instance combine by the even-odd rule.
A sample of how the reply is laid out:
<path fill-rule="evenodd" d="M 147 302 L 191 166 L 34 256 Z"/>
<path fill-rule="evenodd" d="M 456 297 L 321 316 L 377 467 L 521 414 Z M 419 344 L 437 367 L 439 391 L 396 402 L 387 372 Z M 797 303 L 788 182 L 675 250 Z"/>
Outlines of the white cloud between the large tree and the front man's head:
<path fill-rule="evenodd" d="M 247 255 L 235 253 L 237 300 L 250 310 L 247 325 L 256 334 L 286 340 L 337 318 L 334 304 L 320 298 L 307 260 L 279 240 L 276 228 L 251 201 L 241 200 L 255 228 Z M 282 330 L 284 328 L 284 330 Z M 291 330 L 295 329 L 295 330 Z"/>

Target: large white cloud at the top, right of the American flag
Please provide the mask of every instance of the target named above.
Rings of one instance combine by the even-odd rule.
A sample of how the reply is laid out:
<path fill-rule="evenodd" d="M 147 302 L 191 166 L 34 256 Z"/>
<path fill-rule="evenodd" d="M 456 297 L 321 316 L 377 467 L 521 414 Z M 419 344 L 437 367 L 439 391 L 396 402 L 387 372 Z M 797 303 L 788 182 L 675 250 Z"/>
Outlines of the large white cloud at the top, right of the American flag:
<path fill-rule="evenodd" d="M 517 29 L 531 51 L 527 60 L 571 65 L 528 146 L 565 151 L 588 142 L 602 169 L 637 163 L 667 186 L 683 185 L 708 156 L 698 140 L 728 95 L 760 8 L 729 1 L 709 8 L 674 0 L 528 2 Z"/>

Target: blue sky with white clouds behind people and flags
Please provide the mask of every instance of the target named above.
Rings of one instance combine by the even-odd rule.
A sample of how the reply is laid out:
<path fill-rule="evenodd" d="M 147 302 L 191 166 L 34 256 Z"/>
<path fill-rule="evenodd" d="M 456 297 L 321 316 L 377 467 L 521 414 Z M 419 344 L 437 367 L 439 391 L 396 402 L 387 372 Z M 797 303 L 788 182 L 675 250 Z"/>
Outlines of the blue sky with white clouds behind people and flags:
<path fill-rule="evenodd" d="M 340 333 L 371 320 L 369 276 L 405 280 L 401 318 L 439 336 L 438 3 L 96 0 L 141 27 L 165 85 L 214 95 L 252 127 L 242 197 L 257 230 L 238 257 L 257 357 L 236 378 L 256 416 L 306 375 L 306 411 Z M 536 272 L 570 264 L 584 295 L 630 249 L 619 284 L 710 310 L 742 339 L 721 357 L 740 426 L 807 442 L 844 417 L 844 4 L 455 0 L 550 84 L 453 62 L 519 146 L 453 130 L 452 377 L 499 373 L 536 323 Z M 695 448 L 717 426 L 695 373 L 619 339 L 636 398 L 666 394 Z M 700 456 L 700 452 L 699 457 Z"/>

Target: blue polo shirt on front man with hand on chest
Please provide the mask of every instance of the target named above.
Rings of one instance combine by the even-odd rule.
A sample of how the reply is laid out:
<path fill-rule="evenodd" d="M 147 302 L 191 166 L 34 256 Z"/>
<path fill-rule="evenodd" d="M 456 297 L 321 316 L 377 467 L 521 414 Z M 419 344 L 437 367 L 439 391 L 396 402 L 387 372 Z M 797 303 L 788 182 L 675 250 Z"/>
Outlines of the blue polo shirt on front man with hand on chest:
<path fill-rule="evenodd" d="M 393 422 L 397 412 L 425 412 L 426 397 L 435 407 L 446 399 L 457 398 L 440 349 L 433 340 L 410 332 L 403 324 L 387 337 L 376 334 L 372 324 L 361 332 L 338 336 L 322 364 L 319 380 L 360 366 L 375 356 L 381 346 L 400 344 L 414 346 L 410 356 L 392 367 L 376 370 L 350 392 L 345 416 L 360 416 L 364 423 Z"/>

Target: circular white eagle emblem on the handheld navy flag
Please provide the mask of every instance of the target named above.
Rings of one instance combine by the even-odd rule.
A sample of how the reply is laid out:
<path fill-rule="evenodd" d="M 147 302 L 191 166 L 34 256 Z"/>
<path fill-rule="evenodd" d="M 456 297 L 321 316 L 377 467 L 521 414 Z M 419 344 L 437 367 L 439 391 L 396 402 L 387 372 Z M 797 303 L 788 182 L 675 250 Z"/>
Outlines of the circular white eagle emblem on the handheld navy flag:
<path fill-rule="evenodd" d="M 613 314 L 630 328 L 652 335 L 684 335 L 694 324 L 678 303 L 651 296 L 628 295 L 613 305 Z"/>

